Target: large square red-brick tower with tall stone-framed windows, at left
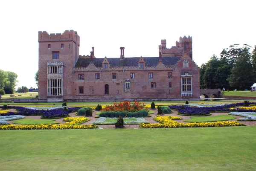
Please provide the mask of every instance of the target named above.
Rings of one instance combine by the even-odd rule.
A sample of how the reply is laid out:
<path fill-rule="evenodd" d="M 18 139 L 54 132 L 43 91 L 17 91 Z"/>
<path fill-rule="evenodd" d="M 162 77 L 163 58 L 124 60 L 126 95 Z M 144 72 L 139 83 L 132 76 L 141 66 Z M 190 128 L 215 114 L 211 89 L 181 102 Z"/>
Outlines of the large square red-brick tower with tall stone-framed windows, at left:
<path fill-rule="evenodd" d="M 48 34 L 38 32 L 39 99 L 59 99 L 72 95 L 72 71 L 79 58 L 80 37 L 74 30 Z M 67 86 L 63 86 L 65 85 Z"/>

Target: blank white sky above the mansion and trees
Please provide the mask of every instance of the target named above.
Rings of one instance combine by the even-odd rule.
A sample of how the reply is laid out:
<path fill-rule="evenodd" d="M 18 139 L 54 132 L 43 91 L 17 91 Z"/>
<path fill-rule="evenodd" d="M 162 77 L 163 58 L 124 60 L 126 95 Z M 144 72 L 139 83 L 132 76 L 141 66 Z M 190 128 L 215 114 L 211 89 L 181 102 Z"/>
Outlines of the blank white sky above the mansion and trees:
<path fill-rule="evenodd" d="M 38 31 L 80 36 L 80 55 L 157 57 L 161 39 L 175 46 L 192 36 L 200 67 L 235 43 L 256 44 L 255 0 L 10 0 L 0 6 L 0 70 L 17 73 L 18 87 L 36 87 Z"/>

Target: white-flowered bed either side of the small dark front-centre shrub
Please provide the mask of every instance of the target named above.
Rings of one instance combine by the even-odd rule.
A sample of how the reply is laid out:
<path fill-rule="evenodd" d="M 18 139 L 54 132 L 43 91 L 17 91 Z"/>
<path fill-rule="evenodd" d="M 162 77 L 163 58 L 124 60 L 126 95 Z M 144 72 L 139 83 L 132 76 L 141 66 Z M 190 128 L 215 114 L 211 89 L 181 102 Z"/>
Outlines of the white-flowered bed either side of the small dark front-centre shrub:
<path fill-rule="evenodd" d="M 106 118 L 106 117 L 100 117 L 96 122 L 92 122 L 92 124 L 96 125 L 114 125 L 116 122 L 107 122 L 107 119 L 117 119 L 118 118 Z M 135 124 L 142 124 L 142 123 L 148 123 L 144 118 L 123 118 L 125 124 L 129 125 L 135 125 Z M 136 121 L 127 121 L 128 119 L 136 119 Z"/>

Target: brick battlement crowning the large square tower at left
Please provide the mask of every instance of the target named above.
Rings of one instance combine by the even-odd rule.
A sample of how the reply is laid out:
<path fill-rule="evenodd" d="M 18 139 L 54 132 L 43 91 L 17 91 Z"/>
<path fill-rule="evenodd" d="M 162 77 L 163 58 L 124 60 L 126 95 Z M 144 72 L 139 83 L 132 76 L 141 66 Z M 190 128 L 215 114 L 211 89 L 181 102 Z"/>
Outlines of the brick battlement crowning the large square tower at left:
<path fill-rule="evenodd" d="M 80 43 L 80 37 L 77 35 L 77 32 L 74 30 L 65 30 L 61 33 L 50 33 L 47 31 L 38 31 L 38 42 L 47 42 L 47 41 L 76 41 Z"/>

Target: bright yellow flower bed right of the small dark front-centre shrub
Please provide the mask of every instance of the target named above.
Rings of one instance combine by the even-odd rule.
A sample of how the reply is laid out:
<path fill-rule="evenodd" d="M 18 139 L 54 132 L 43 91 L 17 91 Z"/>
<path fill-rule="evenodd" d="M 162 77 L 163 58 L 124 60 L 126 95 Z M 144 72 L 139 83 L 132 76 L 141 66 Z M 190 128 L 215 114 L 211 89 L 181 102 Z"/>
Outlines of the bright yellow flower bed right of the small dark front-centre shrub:
<path fill-rule="evenodd" d="M 239 122 L 201 122 L 201 123 L 178 123 L 173 121 L 169 116 L 157 116 L 154 118 L 162 124 L 141 124 L 140 128 L 187 128 L 187 127 L 227 127 L 227 126 L 244 126 Z"/>

